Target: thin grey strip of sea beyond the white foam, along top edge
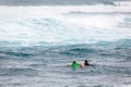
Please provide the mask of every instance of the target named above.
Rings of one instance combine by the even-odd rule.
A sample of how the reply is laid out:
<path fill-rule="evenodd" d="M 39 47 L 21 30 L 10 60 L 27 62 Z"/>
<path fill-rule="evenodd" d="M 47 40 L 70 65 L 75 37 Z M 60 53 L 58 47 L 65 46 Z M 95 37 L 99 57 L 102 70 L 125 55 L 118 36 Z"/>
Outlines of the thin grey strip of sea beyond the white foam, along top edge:
<path fill-rule="evenodd" d="M 0 0 L 0 5 L 116 5 L 117 1 L 131 0 Z"/>

